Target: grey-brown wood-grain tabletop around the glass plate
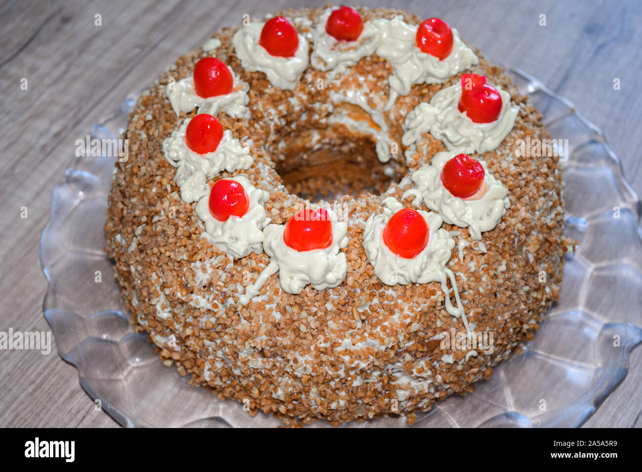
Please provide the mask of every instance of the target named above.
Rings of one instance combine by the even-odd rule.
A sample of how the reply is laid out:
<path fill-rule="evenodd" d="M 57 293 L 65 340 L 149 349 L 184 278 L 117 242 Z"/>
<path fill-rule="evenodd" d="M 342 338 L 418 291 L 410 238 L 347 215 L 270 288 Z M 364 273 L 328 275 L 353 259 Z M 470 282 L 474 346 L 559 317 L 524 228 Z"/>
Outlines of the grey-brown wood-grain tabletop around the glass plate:
<path fill-rule="evenodd" d="M 306 0 L 0 1 L 0 331 L 49 331 L 39 239 L 76 139 L 213 31 Z M 642 2 L 363 1 L 438 16 L 496 62 L 573 101 L 642 194 Z M 539 25 L 546 15 L 546 26 Z M 101 15 L 101 26 L 96 26 Z M 619 78 L 621 89 L 613 89 Z M 27 89 L 21 84 L 27 80 Z M 28 218 L 21 218 L 27 207 Z M 53 349 L 0 351 L 0 426 L 117 426 Z M 585 426 L 642 426 L 642 349 Z"/>

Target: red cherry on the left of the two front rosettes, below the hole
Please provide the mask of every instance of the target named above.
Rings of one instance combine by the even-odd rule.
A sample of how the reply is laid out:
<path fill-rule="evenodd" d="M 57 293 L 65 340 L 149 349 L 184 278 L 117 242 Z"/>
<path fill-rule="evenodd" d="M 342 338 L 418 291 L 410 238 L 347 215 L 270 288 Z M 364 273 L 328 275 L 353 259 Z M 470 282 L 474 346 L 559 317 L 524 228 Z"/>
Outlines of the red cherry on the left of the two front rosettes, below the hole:
<path fill-rule="evenodd" d="M 332 244 L 330 215 L 323 208 L 297 211 L 285 225 L 283 241 L 299 252 L 329 247 Z"/>

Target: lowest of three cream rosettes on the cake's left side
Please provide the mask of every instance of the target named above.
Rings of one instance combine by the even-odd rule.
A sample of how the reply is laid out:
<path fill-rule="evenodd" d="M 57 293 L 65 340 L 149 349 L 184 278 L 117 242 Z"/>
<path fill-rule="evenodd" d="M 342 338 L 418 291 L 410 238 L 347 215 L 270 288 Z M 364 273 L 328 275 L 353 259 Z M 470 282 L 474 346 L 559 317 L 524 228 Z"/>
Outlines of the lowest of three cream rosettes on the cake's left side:
<path fill-rule="evenodd" d="M 214 218 L 209 212 L 209 193 L 198 200 L 196 214 L 205 225 L 201 237 L 208 240 L 221 251 L 235 259 L 244 258 L 250 252 L 262 252 L 265 240 L 263 228 L 270 222 L 265 213 L 265 202 L 270 200 L 270 193 L 252 185 L 252 182 L 238 175 L 228 180 L 236 180 L 249 200 L 247 213 L 243 216 L 230 215 L 225 222 Z"/>

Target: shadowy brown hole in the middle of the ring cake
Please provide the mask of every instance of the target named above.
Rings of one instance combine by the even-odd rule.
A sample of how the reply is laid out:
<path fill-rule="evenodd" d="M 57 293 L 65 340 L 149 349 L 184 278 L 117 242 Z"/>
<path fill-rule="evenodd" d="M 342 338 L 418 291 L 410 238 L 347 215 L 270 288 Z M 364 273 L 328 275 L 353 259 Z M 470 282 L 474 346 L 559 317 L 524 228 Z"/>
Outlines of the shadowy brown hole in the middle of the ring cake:
<path fill-rule="evenodd" d="M 404 164 L 381 162 L 370 135 L 341 135 L 328 130 L 306 130 L 279 145 L 276 170 L 290 193 L 318 202 L 364 192 L 381 195 L 399 182 Z"/>

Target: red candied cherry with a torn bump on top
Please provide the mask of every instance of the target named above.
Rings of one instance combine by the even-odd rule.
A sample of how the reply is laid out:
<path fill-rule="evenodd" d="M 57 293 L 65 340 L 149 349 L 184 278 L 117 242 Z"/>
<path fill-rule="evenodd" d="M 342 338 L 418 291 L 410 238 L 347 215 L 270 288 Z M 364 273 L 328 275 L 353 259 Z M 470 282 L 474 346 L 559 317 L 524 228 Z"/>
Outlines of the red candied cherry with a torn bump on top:
<path fill-rule="evenodd" d="M 495 87 L 486 83 L 485 76 L 462 75 L 462 96 L 457 108 L 474 123 L 490 123 L 499 118 L 501 96 Z"/>

